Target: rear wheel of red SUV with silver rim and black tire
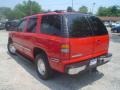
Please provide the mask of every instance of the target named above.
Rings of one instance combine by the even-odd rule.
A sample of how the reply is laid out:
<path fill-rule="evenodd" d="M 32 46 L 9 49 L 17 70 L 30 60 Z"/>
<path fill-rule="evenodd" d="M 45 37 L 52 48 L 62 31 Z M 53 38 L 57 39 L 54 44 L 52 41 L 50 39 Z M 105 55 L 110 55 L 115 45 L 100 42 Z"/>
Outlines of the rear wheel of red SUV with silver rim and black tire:
<path fill-rule="evenodd" d="M 42 80 L 48 80 L 52 77 L 53 70 L 51 69 L 48 59 L 45 54 L 38 54 L 35 58 L 35 67 L 38 76 Z"/>

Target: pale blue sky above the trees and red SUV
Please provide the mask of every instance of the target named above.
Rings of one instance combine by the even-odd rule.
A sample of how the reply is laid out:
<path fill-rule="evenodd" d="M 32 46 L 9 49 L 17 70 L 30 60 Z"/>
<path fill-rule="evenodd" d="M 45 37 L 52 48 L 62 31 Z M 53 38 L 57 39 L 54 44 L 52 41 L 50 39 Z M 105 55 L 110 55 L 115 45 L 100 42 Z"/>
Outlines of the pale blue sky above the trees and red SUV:
<path fill-rule="evenodd" d="M 0 7 L 13 8 L 16 4 L 22 3 L 24 0 L 0 0 Z M 32 0 L 38 2 L 44 10 L 66 10 L 68 6 L 72 5 L 72 0 Z M 93 8 L 95 13 L 100 6 L 108 7 L 112 5 L 120 5 L 120 0 L 73 0 L 74 9 L 78 10 L 79 7 L 85 5 L 88 7 L 89 12 Z"/>

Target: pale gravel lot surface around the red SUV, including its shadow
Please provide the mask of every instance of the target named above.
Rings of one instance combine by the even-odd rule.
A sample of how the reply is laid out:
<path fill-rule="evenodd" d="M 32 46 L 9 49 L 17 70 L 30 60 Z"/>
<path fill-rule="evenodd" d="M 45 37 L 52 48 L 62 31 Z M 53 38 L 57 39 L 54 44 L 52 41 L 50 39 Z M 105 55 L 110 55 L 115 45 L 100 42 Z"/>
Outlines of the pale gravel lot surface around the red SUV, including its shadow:
<path fill-rule="evenodd" d="M 112 60 L 98 68 L 98 73 L 70 77 L 56 74 L 43 81 L 34 65 L 22 56 L 7 51 L 8 32 L 0 31 L 0 90 L 120 90 L 120 35 L 110 34 Z"/>

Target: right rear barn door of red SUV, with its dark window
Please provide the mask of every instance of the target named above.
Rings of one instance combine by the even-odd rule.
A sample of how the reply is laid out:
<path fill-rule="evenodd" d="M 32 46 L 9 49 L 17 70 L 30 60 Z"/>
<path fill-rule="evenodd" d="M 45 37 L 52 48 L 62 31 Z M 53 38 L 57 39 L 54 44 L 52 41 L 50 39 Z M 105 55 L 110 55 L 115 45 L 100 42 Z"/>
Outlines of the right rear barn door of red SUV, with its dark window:
<path fill-rule="evenodd" d="M 94 56 L 99 56 L 108 52 L 109 35 L 104 24 L 94 16 L 88 18 L 94 33 Z"/>

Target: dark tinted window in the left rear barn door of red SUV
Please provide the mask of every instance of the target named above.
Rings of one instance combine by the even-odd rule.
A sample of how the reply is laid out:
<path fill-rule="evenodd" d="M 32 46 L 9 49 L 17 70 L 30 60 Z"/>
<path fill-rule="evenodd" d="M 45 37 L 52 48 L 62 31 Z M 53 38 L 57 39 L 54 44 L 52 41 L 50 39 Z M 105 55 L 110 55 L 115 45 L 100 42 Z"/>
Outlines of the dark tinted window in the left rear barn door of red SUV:
<path fill-rule="evenodd" d="M 69 37 L 88 37 L 92 35 L 89 23 L 80 14 L 66 15 Z"/>

